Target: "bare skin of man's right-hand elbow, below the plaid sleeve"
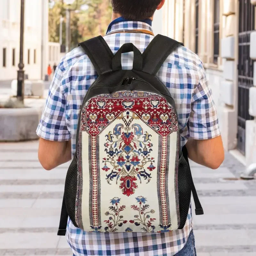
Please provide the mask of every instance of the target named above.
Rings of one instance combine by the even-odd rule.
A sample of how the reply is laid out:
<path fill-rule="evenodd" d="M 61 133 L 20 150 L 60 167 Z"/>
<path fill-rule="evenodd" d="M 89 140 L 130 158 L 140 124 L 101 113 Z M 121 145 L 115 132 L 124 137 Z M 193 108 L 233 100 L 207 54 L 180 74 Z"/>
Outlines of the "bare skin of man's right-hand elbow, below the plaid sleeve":
<path fill-rule="evenodd" d="M 186 143 L 188 157 L 211 169 L 220 167 L 224 160 L 224 148 L 221 136 L 209 140 L 189 139 Z"/>

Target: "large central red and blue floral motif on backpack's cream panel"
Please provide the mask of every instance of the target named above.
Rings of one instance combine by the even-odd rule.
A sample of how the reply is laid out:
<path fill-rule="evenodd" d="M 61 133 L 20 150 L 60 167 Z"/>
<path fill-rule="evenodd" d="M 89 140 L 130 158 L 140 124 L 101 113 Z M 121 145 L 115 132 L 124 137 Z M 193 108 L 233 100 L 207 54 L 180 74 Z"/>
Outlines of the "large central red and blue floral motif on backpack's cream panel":
<path fill-rule="evenodd" d="M 116 178 L 121 181 L 119 188 L 126 196 L 134 194 L 138 188 L 137 181 L 151 179 L 151 173 L 156 169 L 155 159 L 150 156 L 152 146 L 150 135 L 143 132 L 140 124 L 132 124 L 133 120 L 139 119 L 133 112 L 127 111 L 117 119 L 123 122 L 116 124 L 113 132 L 106 135 L 105 152 L 107 157 L 103 158 L 102 168 L 106 174 L 108 184 Z M 124 126 L 125 124 L 125 126 Z M 133 130 L 133 131 L 132 131 Z"/>

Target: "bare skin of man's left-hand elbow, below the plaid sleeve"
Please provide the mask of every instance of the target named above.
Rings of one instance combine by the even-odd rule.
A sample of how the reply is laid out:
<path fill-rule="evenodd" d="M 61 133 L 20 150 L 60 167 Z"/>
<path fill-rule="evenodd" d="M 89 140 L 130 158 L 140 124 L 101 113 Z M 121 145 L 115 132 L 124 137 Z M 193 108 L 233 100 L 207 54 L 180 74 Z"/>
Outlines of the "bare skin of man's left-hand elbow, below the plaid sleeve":
<path fill-rule="evenodd" d="M 40 138 L 38 159 L 47 171 L 68 162 L 71 160 L 71 140 L 51 141 Z"/>

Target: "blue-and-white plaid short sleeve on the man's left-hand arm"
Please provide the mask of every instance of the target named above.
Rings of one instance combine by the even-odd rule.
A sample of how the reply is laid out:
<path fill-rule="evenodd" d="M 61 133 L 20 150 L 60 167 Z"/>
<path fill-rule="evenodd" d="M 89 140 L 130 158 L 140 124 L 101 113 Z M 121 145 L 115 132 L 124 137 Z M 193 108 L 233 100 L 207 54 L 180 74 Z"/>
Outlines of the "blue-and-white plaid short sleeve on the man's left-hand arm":
<path fill-rule="evenodd" d="M 45 140 L 66 141 L 71 138 L 66 124 L 66 98 L 61 87 L 62 79 L 63 72 L 59 64 L 54 73 L 42 117 L 36 130 L 36 134 Z"/>

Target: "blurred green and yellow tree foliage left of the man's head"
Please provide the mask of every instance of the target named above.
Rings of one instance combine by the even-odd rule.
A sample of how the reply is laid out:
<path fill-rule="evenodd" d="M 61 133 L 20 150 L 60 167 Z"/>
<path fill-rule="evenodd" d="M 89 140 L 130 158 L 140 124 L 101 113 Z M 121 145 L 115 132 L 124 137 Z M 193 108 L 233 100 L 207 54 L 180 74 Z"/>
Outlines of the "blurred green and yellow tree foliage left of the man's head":
<path fill-rule="evenodd" d="M 60 17 L 62 25 L 62 42 L 66 39 L 66 11 L 64 0 L 49 0 L 49 41 L 60 41 Z M 71 6 L 77 11 L 71 12 L 71 48 L 83 40 L 104 35 L 111 21 L 111 0 L 78 0 Z"/>

